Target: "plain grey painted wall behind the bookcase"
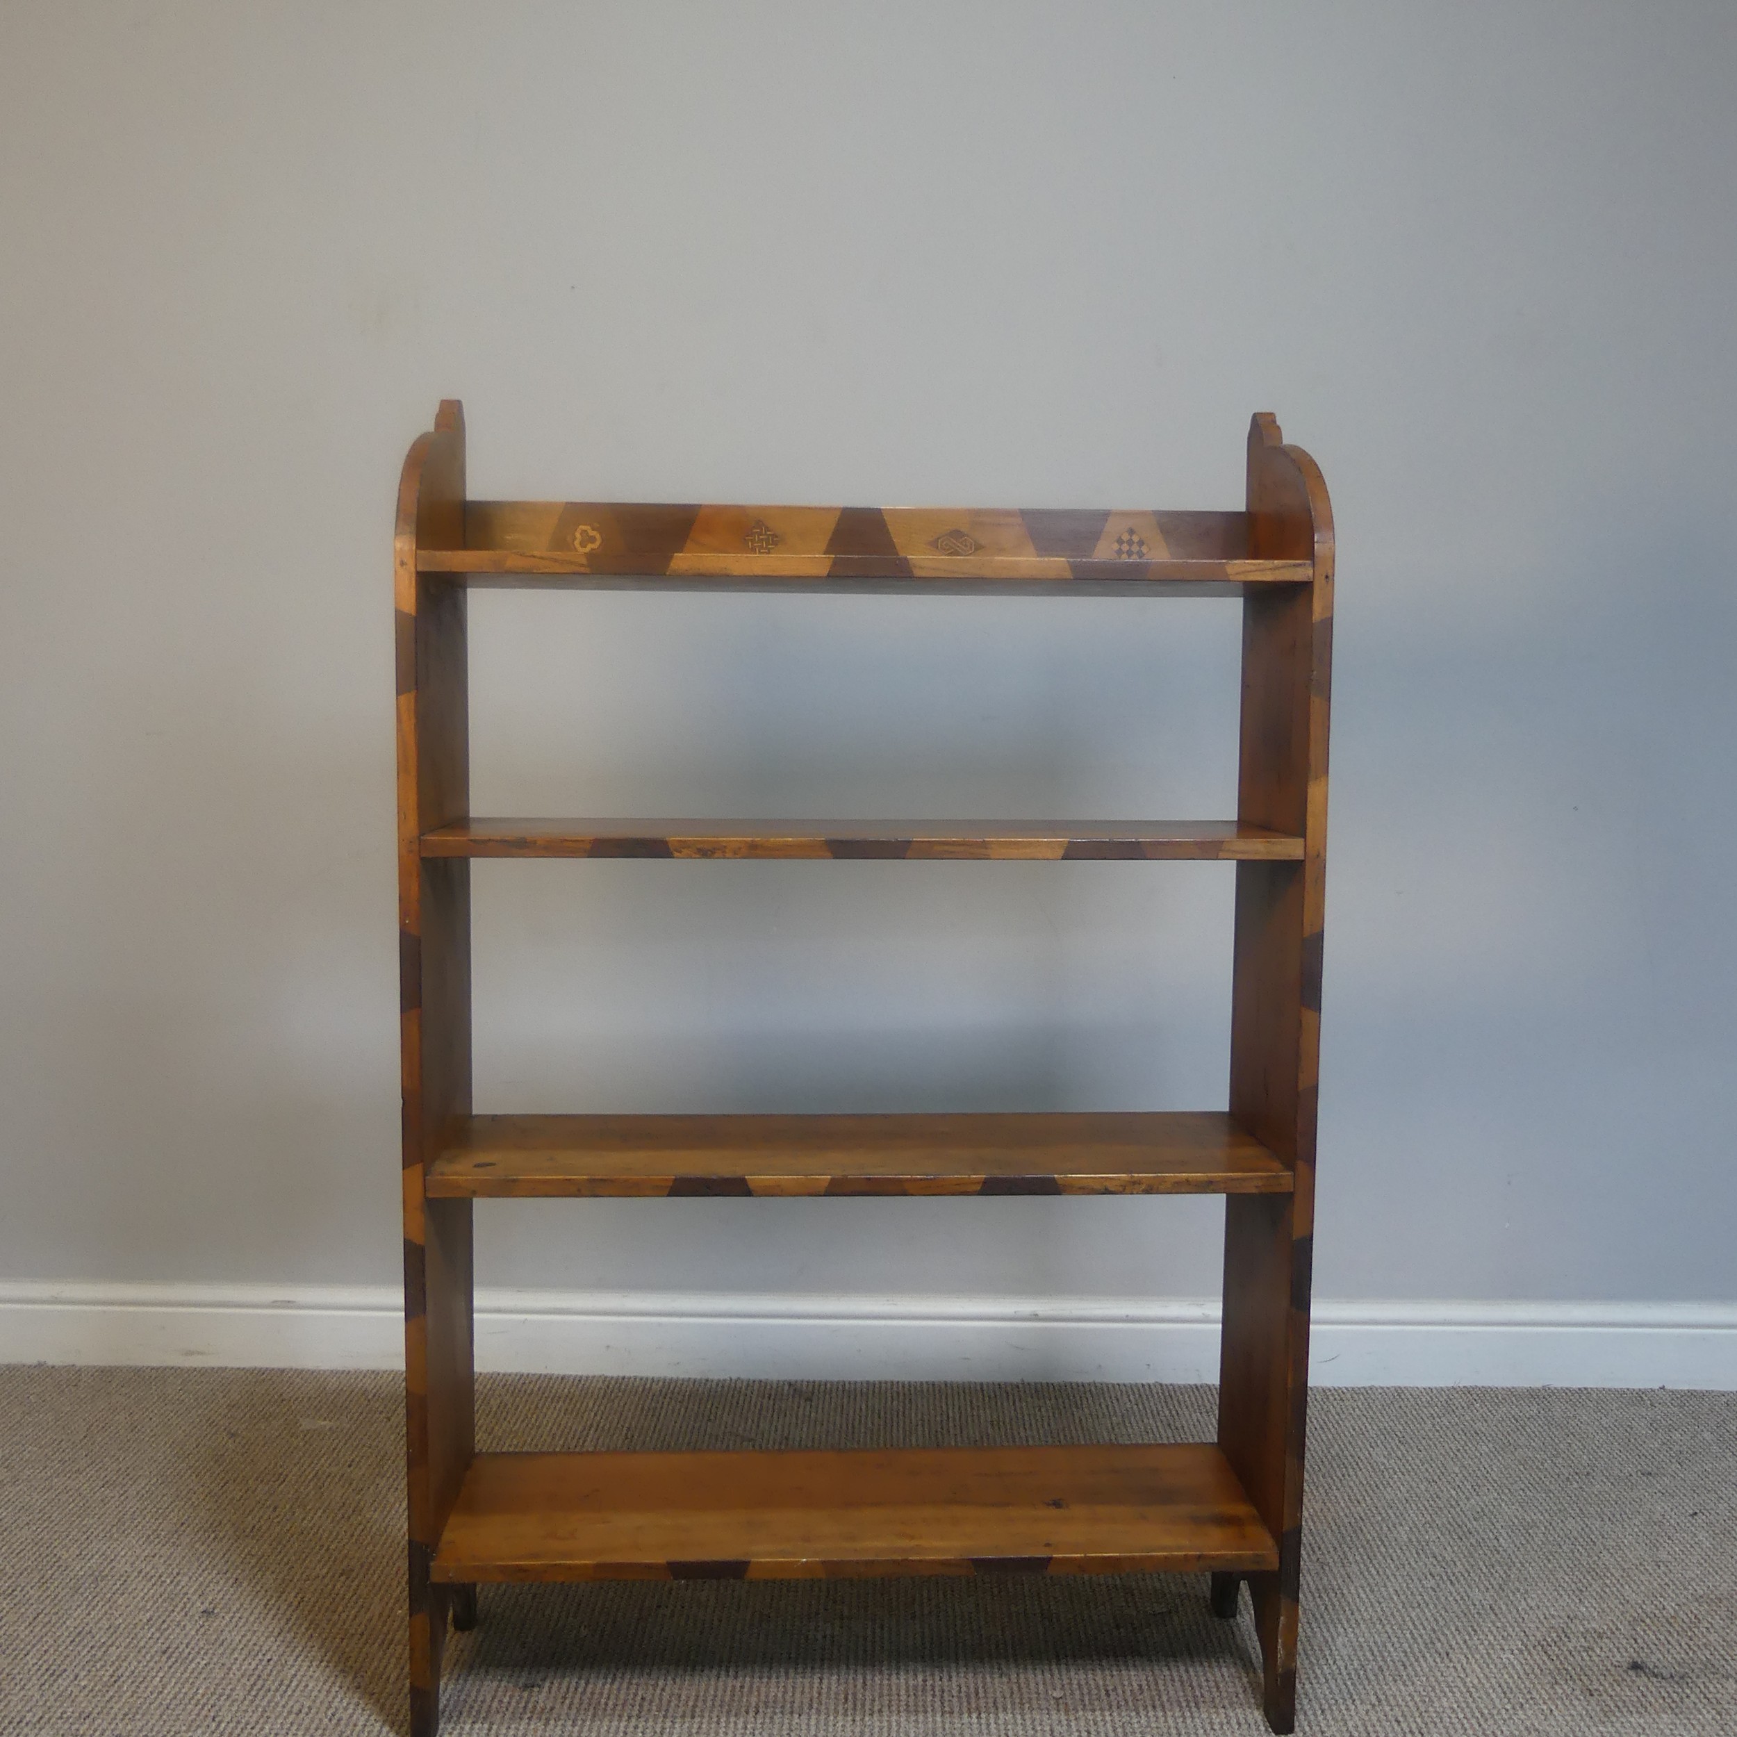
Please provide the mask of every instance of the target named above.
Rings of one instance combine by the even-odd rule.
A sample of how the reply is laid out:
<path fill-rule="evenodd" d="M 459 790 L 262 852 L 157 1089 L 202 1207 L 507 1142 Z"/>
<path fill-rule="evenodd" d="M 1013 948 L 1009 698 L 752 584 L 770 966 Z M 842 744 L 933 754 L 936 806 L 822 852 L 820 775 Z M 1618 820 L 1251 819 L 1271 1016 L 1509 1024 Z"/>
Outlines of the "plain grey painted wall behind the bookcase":
<path fill-rule="evenodd" d="M 398 1270 L 387 538 L 1341 530 L 1322 1294 L 1730 1299 L 1737 10 L 0 14 L 0 1277 Z M 1235 606 L 493 596 L 479 811 L 1226 813 Z M 481 865 L 486 1108 L 1211 1106 L 1212 865 Z M 502 1204 L 485 1280 L 1193 1294 L 1211 1202 Z"/>

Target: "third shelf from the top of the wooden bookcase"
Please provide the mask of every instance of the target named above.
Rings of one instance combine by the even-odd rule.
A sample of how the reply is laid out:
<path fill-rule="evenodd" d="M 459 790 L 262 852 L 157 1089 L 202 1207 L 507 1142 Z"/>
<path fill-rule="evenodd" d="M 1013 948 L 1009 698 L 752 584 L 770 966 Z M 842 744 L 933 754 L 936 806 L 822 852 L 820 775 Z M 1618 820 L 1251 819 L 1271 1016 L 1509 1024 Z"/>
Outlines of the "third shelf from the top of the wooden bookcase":
<path fill-rule="evenodd" d="M 943 1115 L 464 1115 L 433 1199 L 1291 1193 L 1205 1110 Z"/>

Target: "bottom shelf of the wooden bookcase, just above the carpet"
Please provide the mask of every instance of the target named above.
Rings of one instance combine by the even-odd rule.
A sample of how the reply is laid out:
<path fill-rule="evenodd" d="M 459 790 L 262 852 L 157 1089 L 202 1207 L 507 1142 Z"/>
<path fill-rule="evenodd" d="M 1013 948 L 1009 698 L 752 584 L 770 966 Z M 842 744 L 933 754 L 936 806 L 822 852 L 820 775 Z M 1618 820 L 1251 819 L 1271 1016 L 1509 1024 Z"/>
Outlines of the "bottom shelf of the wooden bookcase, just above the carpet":
<path fill-rule="evenodd" d="M 1278 1565 L 1211 1445 L 478 1454 L 436 1581 Z"/>

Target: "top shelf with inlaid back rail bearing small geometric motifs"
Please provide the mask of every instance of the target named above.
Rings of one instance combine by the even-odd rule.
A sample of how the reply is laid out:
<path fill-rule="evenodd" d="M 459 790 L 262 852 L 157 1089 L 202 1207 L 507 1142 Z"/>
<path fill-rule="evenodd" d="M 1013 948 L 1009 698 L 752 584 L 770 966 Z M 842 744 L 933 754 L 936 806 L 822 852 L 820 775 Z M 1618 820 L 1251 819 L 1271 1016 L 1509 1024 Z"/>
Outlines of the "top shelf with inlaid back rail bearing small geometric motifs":
<path fill-rule="evenodd" d="M 1251 559 L 1245 512 L 471 500 L 462 525 L 462 547 L 419 544 L 419 571 L 469 585 L 1072 596 L 1240 596 L 1315 573 Z"/>

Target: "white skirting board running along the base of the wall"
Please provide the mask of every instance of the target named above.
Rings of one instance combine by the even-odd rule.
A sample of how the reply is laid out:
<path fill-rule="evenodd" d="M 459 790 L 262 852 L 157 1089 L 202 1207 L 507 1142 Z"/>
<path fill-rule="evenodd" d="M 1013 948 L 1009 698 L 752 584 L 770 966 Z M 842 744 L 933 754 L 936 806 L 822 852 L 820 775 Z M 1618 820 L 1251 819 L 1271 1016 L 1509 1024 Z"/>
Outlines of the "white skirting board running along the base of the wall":
<path fill-rule="evenodd" d="M 403 1367 L 389 1285 L 0 1282 L 0 1362 Z M 1216 1299 L 479 1291 L 479 1369 L 905 1381 L 1216 1381 Z M 1334 1303 L 1322 1386 L 1737 1390 L 1737 1303 Z"/>

